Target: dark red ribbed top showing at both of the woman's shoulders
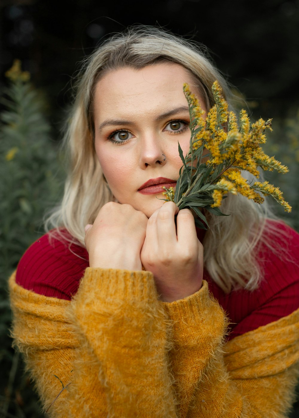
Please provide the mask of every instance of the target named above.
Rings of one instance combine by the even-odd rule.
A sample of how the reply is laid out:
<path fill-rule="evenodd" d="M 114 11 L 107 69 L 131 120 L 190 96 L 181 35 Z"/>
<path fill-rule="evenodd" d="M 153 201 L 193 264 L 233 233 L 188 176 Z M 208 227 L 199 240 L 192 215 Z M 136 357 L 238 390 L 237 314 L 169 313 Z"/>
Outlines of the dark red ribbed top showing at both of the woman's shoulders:
<path fill-rule="evenodd" d="M 272 221 L 271 221 L 272 222 Z M 232 322 L 229 338 L 277 321 L 299 308 L 299 234 L 279 223 L 284 235 L 273 237 L 281 256 L 268 248 L 259 253 L 264 278 L 255 291 L 234 290 L 225 294 L 204 271 L 204 279 Z M 88 267 L 88 253 L 79 245 L 43 235 L 21 258 L 16 282 L 45 296 L 70 300 Z"/>

